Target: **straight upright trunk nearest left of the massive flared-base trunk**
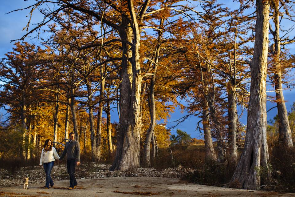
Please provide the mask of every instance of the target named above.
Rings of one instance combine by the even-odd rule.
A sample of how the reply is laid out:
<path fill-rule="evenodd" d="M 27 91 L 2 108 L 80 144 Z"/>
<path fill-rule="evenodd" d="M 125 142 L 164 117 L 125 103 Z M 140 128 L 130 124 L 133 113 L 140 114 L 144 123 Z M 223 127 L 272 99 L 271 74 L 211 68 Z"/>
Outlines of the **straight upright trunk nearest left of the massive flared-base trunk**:
<path fill-rule="evenodd" d="M 236 103 L 236 86 L 230 80 L 227 83 L 228 94 L 228 135 L 229 135 L 229 151 L 230 165 L 235 167 L 238 163 L 238 112 Z"/>

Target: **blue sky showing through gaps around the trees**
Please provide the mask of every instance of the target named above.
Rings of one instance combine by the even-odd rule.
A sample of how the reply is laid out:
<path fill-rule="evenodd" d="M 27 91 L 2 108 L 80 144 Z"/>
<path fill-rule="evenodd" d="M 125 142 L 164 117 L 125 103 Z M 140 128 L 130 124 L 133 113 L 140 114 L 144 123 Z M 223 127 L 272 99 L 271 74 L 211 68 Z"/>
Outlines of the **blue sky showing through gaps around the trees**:
<path fill-rule="evenodd" d="M 26 6 L 29 6 L 34 1 L 23 1 L 23 0 L 2 0 L 1 6 L 0 6 L 0 57 L 4 57 L 4 54 L 8 51 L 12 50 L 13 43 L 10 43 L 10 40 L 21 38 L 23 34 L 25 34 L 25 31 L 22 31 L 26 23 L 28 22 L 28 19 L 26 15 L 29 14 L 29 10 L 22 10 L 18 12 L 13 12 L 10 14 L 5 14 L 11 10 L 24 8 Z M 222 1 L 223 2 L 223 1 Z M 235 4 L 231 3 L 228 4 L 229 7 L 234 6 Z M 37 11 L 34 12 L 32 23 L 36 23 L 41 21 L 42 15 L 38 13 Z M 285 26 L 292 26 L 293 24 L 286 23 Z M 293 33 L 294 35 L 295 33 Z M 34 36 L 34 34 L 33 34 Z M 31 40 L 31 38 L 27 38 L 26 41 L 28 42 L 38 42 L 36 39 Z M 291 52 L 293 54 L 295 53 L 294 45 L 291 46 Z M 293 70 L 294 74 L 294 70 Z M 267 86 L 267 91 L 273 91 L 272 86 Z M 274 92 L 268 92 L 269 96 L 275 96 Z M 293 105 L 293 102 L 295 102 L 294 97 L 294 90 L 284 90 L 284 96 L 286 100 L 286 107 L 289 111 L 291 106 Z M 183 103 L 184 104 L 184 103 Z M 270 101 L 267 101 L 267 110 L 271 107 L 274 107 L 276 104 Z M 2 110 L 2 113 L 3 110 Z M 240 113 L 240 112 L 238 112 Z M 273 119 L 273 117 L 277 114 L 277 109 L 273 109 L 267 113 L 267 119 Z M 175 121 L 182 116 L 186 115 L 186 113 L 181 113 L 180 109 L 175 109 L 175 112 L 171 115 L 171 119 L 168 120 L 169 122 Z M 114 111 L 112 113 L 112 119 L 114 121 L 117 121 L 117 113 Z M 246 119 L 247 119 L 247 113 L 244 111 L 244 114 L 242 115 L 240 121 L 246 125 Z M 179 124 L 178 127 L 175 128 L 175 130 L 171 131 L 172 133 L 176 133 L 176 129 L 181 129 L 183 131 L 186 131 L 188 134 L 191 135 L 191 137 L 194 138 L 202 138 L 200 135 L 200 131 L 195 131 L 196 129 L 196 123 L 199 121 L 199 118 L 195 116 L 191 116 L 187 120 L 185 120 L 183 123 Z M 173 126 L 175 123 L 167 123 L 168 127 Z"/>

